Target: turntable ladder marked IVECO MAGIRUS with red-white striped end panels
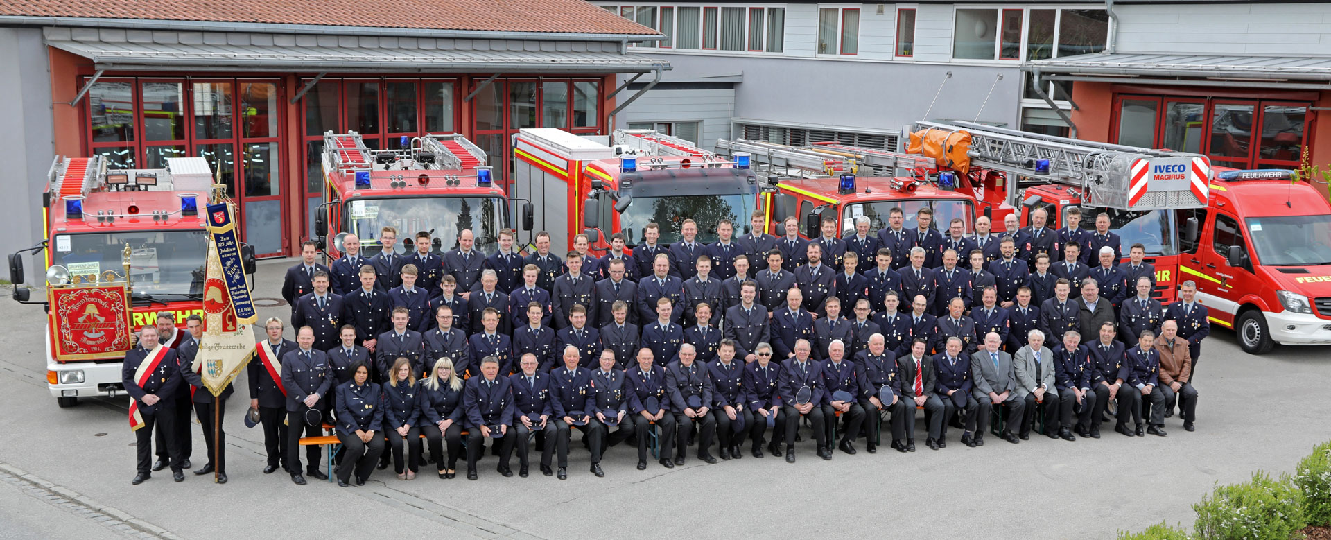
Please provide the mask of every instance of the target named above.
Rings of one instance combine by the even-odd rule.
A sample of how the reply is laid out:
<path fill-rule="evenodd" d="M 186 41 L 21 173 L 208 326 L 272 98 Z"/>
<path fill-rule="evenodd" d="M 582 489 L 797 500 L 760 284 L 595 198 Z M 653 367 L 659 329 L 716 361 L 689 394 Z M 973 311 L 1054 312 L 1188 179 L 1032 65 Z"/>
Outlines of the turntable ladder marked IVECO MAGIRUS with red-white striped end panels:
<path fill-rule="evenodd" d="M 1006 182 L 1008 201 L 1017 205 L 1018 184 L 1065 184 L 1082 189 L 1087 203 L 1125 210 L 1205 207 L 1211 174 L 1202 154 L 1082 141 L 956 121 L 916 122 L 925 132 L 966 132 L 973 168 L 1020 177 Z M 1177 172 L 1154 174 L 1153 168 Z M 1165 181 L 1161 182 L 1159 180 Z"/>

